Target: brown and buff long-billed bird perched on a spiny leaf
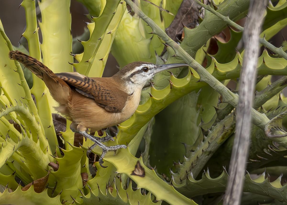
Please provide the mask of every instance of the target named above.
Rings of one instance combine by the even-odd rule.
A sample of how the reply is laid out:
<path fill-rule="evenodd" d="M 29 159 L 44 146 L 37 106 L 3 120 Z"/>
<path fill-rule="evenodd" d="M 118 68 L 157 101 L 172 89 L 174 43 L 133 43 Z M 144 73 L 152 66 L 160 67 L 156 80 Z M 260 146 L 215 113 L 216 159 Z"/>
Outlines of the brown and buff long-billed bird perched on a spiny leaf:
<path fill-rule="evenodd" d="M 111 136 L 99 138 L 87 131 L 99 131 L 126 121 L 137 109 L 141 90 L 148 80 L 160 71 L 188 66 L 185 63 L 156 65 L 137 61 L 124 66 L 112 77 L 93 78 L 78 72 L 55 74 L 37 59 L 20 51 L 10 51 L 8 56 L 43 80 L 51 96 L 58 102 L 55 110 L 72 122 L 70 129 L 94 142 L 87 156 L 97 145 L 102 148 L 99 159 L 102 167 L 105 167 L 102 165 L 103 158 L 108 151 L 116 152 L 127 146 L 105 146 L 102 143 L 114 141 Z"/>

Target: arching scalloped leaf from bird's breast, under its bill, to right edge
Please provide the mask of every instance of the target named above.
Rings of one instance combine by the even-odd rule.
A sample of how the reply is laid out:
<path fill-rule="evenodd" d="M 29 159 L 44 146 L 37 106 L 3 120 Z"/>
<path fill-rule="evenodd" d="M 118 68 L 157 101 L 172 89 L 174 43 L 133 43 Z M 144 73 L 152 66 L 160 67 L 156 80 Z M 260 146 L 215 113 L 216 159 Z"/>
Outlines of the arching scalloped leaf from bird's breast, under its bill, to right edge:
<path fill-rule="evenodd" d="M 234 53 L 236 52 L 234 51 Z M 220 81 L 238 78 L 242 61 L 241 55 L 236 53 L 234 59 L 228 63 L 218 63 L 216 59 L 213 59 L 206 70 Z M 133 116 L 119 126 L 118 140 L 120 144 L 129 142 L 143 125 L 171 102 L 189 92 L 206 86 L 205 83 L 198 82 L 198 74 L 193 69 L 191 70 L 193 73 L 188 72 L 184 78 L 179 79 L 171 75 L 172 88 L 170 88 L 170 85 L 162 90 L 157 90 L 154 87 L 150 88 L 152 97 L 148 98 L 144 104 L 139 105 Z M 258 62 L 259 75 L 285 75 L 286 71 L 287 61 L 284 58 L 272 58 L 267 51 L 263 51 Z"/>

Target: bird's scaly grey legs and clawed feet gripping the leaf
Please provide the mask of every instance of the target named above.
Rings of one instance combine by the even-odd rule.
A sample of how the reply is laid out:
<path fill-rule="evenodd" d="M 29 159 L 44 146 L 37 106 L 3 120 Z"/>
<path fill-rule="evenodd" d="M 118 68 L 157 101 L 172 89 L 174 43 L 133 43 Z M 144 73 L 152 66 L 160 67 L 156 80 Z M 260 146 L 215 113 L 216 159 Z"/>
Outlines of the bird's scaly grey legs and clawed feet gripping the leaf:
<path fill-rule="evenodd" d="M 104 144 L 102 144 L 102 142 L 108 142 L 108 141 L 114 141 L 114 139 L 107 135 L 106 137 L 102 137 L 102 138 L 99 138 L 99 137 L 95 137 L 93 135 L 90 135 L 88 133 L 86 133 L 85 131 L 79 131 L 80 134 L 84 135 L 85 137 L 89 138 L 90 140 L 92 140 L 95 144 L 93 144 L 92 146 L 89 147 L 89 149 L 87 150 L 87 157 L 89 157 L 89 154 L 92 152 L 92 150 L 98 145 L 100 148 L 102 148 L 103 152 L 100 156 L 100 159 L 99 159 L 99 163 L 100 163 L 100 166 L 103 167 L 103 168 L 106 168 L 105 166 L 103 166 L 102 164 L 104 163 L 103 161 L 103 158 L 105 156 L 105 154 L 109 151 L 114 151 L 116 152 L 118 149 L 121 149 L 121 148 L 124 148 L 126 149 L 127 146 L 125 145 L 114 145 L 114 146 L 105 146 Z"/>

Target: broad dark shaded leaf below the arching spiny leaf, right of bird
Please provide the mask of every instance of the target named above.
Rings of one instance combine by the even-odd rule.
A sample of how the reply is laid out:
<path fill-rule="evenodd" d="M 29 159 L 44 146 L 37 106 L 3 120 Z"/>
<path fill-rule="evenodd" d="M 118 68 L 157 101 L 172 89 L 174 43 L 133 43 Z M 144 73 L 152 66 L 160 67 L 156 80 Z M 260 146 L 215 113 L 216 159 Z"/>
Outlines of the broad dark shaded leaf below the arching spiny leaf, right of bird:
<path fill-rule="evenodd" d="M 218 96 L 219 94 L 209 86 L 204 87 L 198 94 L 191 92 L 155 116 L 150 164 L 156 165 L 159 173 L 169 175 L 172 162 L 185 161 L 186 156 L 183 154 L 190 151 L 185 150 L 182 143 L 194 144 L 200 127 L 202 129 L 212 127 L 216 119 L 214 107 L 217 106 Z M 201 105 L 200 108 L 198 105 Z M 160 148 L 158 144 L 161 144 Z M 183 173 L 185 174 L 185 171 Z"/>

